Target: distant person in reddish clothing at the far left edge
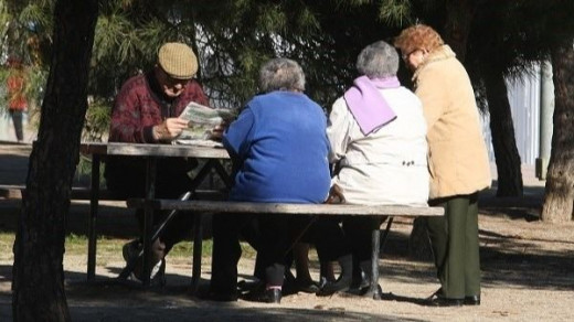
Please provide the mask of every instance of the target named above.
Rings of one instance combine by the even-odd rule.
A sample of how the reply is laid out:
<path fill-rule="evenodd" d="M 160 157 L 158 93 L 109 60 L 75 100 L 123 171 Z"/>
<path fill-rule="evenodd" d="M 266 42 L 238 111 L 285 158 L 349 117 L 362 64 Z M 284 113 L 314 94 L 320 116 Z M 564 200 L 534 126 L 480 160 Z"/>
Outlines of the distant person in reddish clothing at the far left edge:
<path fill-rule="evenodd" d="M 19 143 L 22 143 L 24 141 L 23 116 L 28 109 L 28 99 L 24 93 L 25 73 L 20 57 L 8 57 L 8 112 L 14 125 L 15 138 Z"/>

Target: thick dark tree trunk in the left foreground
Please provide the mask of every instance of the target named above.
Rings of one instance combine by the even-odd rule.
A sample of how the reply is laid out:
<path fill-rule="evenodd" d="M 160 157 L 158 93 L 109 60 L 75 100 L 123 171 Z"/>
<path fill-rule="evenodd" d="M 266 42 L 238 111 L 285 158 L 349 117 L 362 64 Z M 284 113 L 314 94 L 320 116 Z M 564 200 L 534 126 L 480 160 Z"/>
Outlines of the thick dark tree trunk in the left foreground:
<path fill-rule="evenodd" d="M 13 247 L 14 321 L 70 321 L 64 239 L 96 19 L 96 0 L 55 6 L 51 71 Z"/>

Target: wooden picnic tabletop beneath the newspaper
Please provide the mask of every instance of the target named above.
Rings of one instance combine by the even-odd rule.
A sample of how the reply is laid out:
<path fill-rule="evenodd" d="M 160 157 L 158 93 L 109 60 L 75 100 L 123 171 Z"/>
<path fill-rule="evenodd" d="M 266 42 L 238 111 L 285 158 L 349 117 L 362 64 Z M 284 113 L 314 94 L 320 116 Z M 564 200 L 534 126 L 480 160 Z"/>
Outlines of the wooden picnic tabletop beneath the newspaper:
<path fill-rule="evenodd" d="M 188 157 L 205 159 L 230 159 L 227 151 L 221 147 L 192 144 L 144 144 L 120 142 L 82 142 L 79 152 L 99 155 L 131 157 Z"/>

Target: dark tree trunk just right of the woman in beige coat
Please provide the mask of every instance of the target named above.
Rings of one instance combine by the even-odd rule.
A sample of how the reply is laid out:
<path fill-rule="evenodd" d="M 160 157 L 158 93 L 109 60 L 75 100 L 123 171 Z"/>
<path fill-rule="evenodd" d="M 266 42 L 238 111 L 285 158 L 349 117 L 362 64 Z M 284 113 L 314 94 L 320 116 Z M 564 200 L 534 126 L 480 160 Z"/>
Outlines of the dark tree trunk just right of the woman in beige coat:
<path fill-rule="evenodd" d="M 514 139 L 514 125 L 502 73 L 495 69 L 483 75 L 490 112 L 490 131 L 498 172 L 497 196 L 522 196 L 522 170 Z"/>

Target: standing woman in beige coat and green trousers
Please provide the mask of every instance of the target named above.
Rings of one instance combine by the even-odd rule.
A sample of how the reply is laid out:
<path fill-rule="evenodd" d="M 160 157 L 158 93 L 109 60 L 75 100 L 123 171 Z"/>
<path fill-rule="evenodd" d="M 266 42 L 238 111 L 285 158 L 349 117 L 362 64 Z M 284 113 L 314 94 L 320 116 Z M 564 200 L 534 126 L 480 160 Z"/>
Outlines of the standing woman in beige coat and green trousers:
<path fill-rule="evenodd" d="M 415 94 L 427 122 L 431 200 L 445 216 L 426 219 L 442 288 L 428 304 L 480 304 L 478 192 L 490 168 L 470 79 L 455 53 L 431 26 L 401 32 L 395 46 L 414 72 Z"/>

